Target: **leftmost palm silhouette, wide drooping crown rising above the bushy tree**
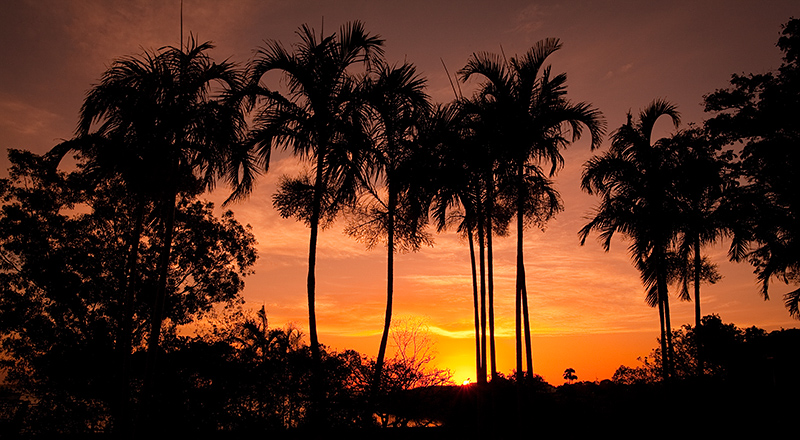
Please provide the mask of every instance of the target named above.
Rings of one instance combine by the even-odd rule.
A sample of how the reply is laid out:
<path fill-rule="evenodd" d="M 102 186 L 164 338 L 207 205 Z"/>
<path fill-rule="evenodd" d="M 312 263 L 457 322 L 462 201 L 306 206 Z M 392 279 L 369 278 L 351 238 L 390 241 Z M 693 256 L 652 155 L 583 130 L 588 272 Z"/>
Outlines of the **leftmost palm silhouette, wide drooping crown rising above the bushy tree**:
<path fill-rule="evenodd" d="M 240 148 L 244 112 L 237 98 L 243 78 L 234 64 L 214 63 L 207 53 L 212 48 L 211 43 L 197 44 L 190 37 L 185 49 L 167 47 L 115 61 L 88 93 L 76 139 L 54 153 L 63 156 L 78 150 L 98 178 L 120 176 L 137 199 L 122 289 L 120 344 L 124 358 L 131 349 L 132 286 L 144 209 L 149 202 L 160 207 L 161 253 L 148 338 L 146 388 L 152 387 L 154 380 L 178 198 L 212 189 L 219 178 L 234 187 L 230 200 L 250 189 L 249 163 L 239 160 L 246 157 Z M 125 370 L 124 366 L 123 381 Z"/>

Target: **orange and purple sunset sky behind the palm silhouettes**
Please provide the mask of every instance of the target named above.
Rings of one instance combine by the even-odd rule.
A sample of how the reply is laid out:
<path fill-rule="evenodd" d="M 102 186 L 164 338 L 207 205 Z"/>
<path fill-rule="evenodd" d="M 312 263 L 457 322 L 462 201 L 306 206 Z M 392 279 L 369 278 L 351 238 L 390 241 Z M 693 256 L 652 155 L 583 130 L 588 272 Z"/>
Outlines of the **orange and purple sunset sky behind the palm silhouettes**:
<path fill-rule="evenodd" d="M 568 97 L 598 107 L 609 131 L 655 98 L 678 105 L 683 127 L 700 123 L 702 97 L 726 87 L 732 73 L 763 73 L 780 65 L 775 47 L 781 24 L 800 16 L 786 1 L 278 1 L 185 0 L 185 36 L 210 40 L 217 61 L 246 63 L 264 40 L 284 45 L 308 23 L 330 34 L 352 20 L 385 38 L 386 59 L 417 65 L 435 102 L 449 102 L 450 73 L 473 52 L 521 54 L 534 42 L 558 37 L 563 48 L 548 58 L 566 72 Z M 73 135 L 82 100 L 115 58 L 143 49 L 177 46 L 180 0 L 6 0 L 0 4 L 0 148 L 44 153 Z M 474 82 L 462 86 L 465 93 Z M 666 120 L 658 136 L 672 131 Z M 606 148 L 604 145 L 603 148 Z M 628 244 L 618 237 L 603 252 L 596 236 L 580 246 L 577 232 L 596 205 L 582 193 L 588 140 L 565 152 L 557 188 L 565 210 L 546 231 L 526 231 L 527 285 L 534 372 L 552 384 L 564 369 L 580 380 L 610 378 L 621 364 L 656 346 L 657 309 L 644 303 Z M 295 322 L 307 330 L 305 275 L 308 229 L 272 208 L 275 182 L 302 167 L 274 156 L 249 200 L 232 206 L 258 240 L 256 273 L 244 291 L 248 306 L 264 305 L 270 323 Z M 0 157 L 0 176 L 8 160 Z M 208 195 L 224 199 L 225 188 Z M 343 223 L 325 230 L 318 247 L 317 321 L 320 341 L 375 356 L 385 307 L 385 252 L 365 250 L 346 236 Z M 512 229 L 512 236 L 514 231 Z M 514 240 L 495 241 L 495 304 L 500 371 L 514 364 Z M 758 294 L 752 269 L 726 262 L 723 242 L 708 249 L 722 281 L 702 291 L 704 314 L 740 327 L 796 327 L 783 306 L 789 289 L 772 284 L 772 300 Z M 437 335 L 441 368 L 458 382 L 474 379 L 472 297 L 467 244 L 453 233 L 435 245 L 401 254 L 395 266 L 395 316 L 423 316 Z M 693 322 L 693 304 L 671 303 L 674 326 Z"/>

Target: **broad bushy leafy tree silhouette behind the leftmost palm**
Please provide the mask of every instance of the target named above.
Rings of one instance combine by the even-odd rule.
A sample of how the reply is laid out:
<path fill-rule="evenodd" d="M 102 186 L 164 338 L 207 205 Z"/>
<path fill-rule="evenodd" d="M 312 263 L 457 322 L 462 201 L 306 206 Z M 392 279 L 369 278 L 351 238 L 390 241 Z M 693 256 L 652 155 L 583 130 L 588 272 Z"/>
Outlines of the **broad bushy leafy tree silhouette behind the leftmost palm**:
<path fill-rule="evenodd" d="M 130 325 L 132 364 L 144 367 L 161 225 L 142 227 L 135 302 L 127 304 L 122 288 L 138 202 L 124 180 L 95 182 L 80 166 L 53 174 L 48 158 L 24 151 L 9 158 L 10 178 L 0 180 L 0 261 L 8 263 L 0 265 L 0 346 L 8 355 L 2 360 L 8 383 L 37 400 L 26 421 L 42 425 L 35 431 L 81 433 L 94 425 L 123 435 L 119 425 L 131 414 L 118 395 L 125 344 L 118 336 Z M 215 304 L 240 301 L 256 259 L 255 239 L 230 212 L 215 216 L 212 205 L 186 197 L 175 209 L 165 340 Z M 134 317 L 123 323 L 128 308 Z M 162 349 L 169 351 L 169 343 Z M 159 378 L 169 369 L 164 363 Z M 146 400 L 144 368 L 128 373 L 132 397 Z"/>

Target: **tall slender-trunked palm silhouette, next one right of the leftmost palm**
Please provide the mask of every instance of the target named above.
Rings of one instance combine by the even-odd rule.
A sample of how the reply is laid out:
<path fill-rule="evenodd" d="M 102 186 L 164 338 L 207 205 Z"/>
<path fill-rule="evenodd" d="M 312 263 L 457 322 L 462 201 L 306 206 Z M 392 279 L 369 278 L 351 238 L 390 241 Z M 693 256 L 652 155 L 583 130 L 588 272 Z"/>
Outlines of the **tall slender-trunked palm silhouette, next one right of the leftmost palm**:
<path fill-rule="evenodd" d="M 312 357 L 319 369 L 321 354 L 315 309 L 317 236 L 321 223 L 332 220 L 345 204 L 353 201 L 362 171 L 360 162 L 368 145 L 361 111 L 363 103 L 348 68 L 377 63 L 383 54 L 383 40 L 368 34 L 358 21 L 327 37 L 318 38 L 308 25 L 301 26 L 297 33 L 300 43 L 294 52 L 290 53 L 280 42 L 268 41 L 250 66 L 251 87 L 263 98 L 252 140 L 254 154 L 265 169 L 271 150 L 277 147 L 292 149 L 313 166 L 313 176 L 284 180 L 275 205 L 283 216 L 298 216 L 310 229 L 309 337 Z M 284 75 L 287 87 L 284 94 L 260 86 L 262 77 L 273 71 Z M 293 209 L 297 207 L 301 209 Z"/>

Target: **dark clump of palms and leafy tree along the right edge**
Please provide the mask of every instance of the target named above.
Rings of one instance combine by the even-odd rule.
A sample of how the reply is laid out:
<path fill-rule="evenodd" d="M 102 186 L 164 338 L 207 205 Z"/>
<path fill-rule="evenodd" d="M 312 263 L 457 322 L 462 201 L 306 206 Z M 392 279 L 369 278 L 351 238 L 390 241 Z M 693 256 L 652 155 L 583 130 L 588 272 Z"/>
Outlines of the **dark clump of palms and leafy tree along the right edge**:
<path fill-rule="evenodd" d="M 668 137 L 652 139 L 662 116 L 679 124 L 677 107 L 655 100 L 611 136 L 608 152 L 584 168 L 583 188 L 601 197 L 593 218 L 580 232 L 583 243 L 600 232 L 608 250 L 615 233 L 627 236 L 631 257 L 647 289 L 647 303 L 658 306 L 663 377 L 675 373 L 668 285 L 679 285 L 690 300 L 694 286 L 695 326 L 701 324 L 700 284 L 719 275 L 702 248 L 721 238 L 730 242 L 732 261 L 748 261 L 768 299 L 773 279 L 796 286 L 800 21 L 783 26 L 778 47 L 784 52 L 777 72 L 733 75 L 731 87 L 704 97 L 713 116 Z M 800 290 L 785 294 L 798 318 Z M 697 346 L 697 372 L 704 371 Z"/>

